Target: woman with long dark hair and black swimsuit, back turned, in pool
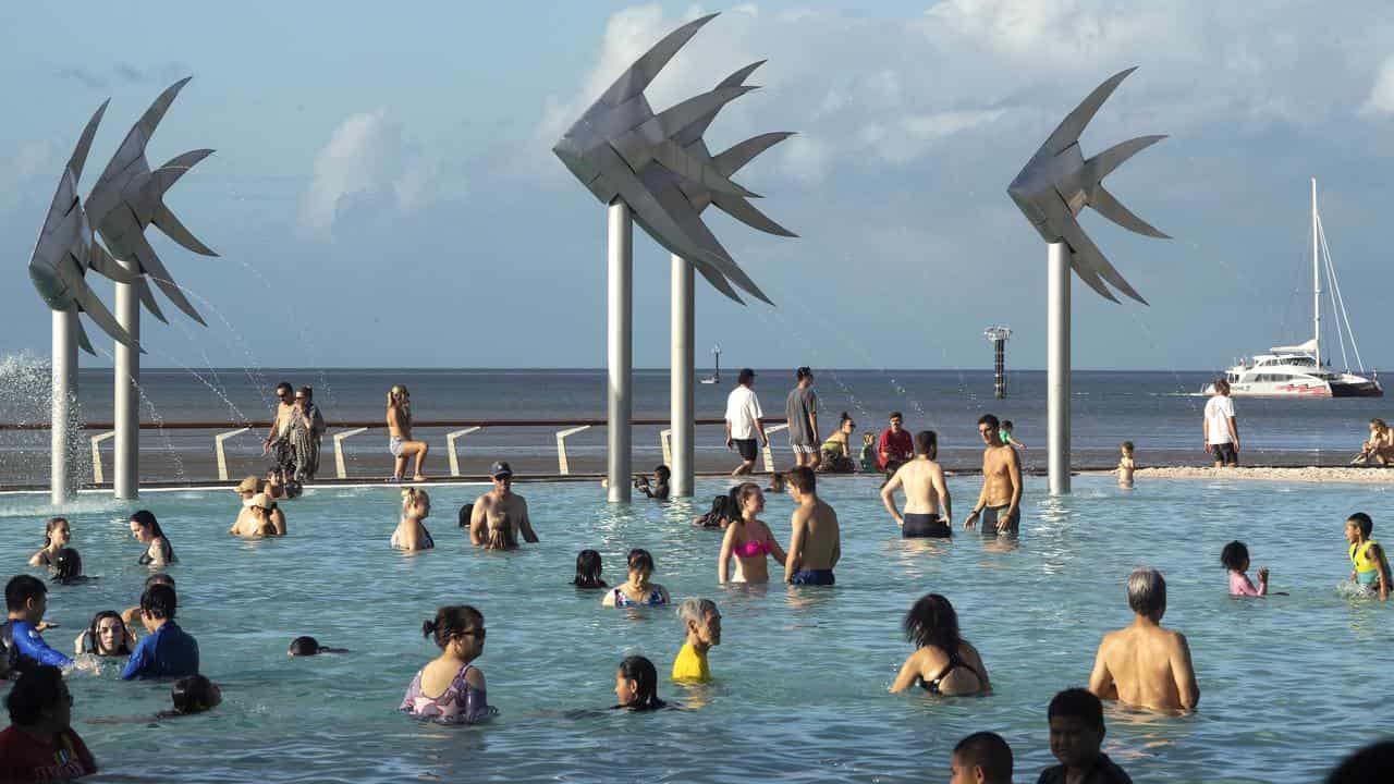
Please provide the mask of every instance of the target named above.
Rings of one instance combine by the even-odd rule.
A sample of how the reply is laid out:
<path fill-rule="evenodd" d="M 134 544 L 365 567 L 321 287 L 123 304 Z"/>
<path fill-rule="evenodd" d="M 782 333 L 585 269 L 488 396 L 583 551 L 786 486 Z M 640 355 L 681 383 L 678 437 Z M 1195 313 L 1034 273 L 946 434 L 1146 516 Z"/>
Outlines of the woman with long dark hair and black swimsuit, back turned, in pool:
<path fill-rule="evenodd" d="M 949 600 L 931 593 L 905 614 L 905 639 L 916 651 L 901 665 L 891 693 L 919 684 L 931 695 L 959 696 L 993 691 L 977 649 L 958 633 L 958 614 Z"/>

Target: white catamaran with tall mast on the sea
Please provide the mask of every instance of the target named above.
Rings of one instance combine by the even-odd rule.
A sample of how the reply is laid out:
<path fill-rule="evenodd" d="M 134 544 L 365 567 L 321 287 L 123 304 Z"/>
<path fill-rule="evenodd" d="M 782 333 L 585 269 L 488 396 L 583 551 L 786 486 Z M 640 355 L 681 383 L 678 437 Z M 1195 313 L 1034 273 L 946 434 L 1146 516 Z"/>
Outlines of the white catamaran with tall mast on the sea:
<path fill-rule="evenodd" d="M 1335 336 L 1341 346 L 1342 364 L 1349 368 L 1347 342 L 1355 356 L 1359 372 L 1337 371 L 1322 361 L 1322 272 L 1326 271 L 1328 296 L 1335 318 Z M 1335 265 L 1331 264 L 1331 250 L 1322 230 L 1322 216 L 1316 209 L 1316 179 L 1312 180 L 1312 339 L 1296 346 L 1274 346 L 1267 354 L 1255 354 L 1241 360 L 1225 371 L 1230 393 L 1246 398 L 1383 398 L 1379 374 L 1365 377 L 1365 363 L 1355 346 L 1351 332 L 1351 318 L 1345 312 L 1341 285 L 1335 279 Z M 1203 395 L 1214 395 L 1214 384 L 1202 389 Z"/>

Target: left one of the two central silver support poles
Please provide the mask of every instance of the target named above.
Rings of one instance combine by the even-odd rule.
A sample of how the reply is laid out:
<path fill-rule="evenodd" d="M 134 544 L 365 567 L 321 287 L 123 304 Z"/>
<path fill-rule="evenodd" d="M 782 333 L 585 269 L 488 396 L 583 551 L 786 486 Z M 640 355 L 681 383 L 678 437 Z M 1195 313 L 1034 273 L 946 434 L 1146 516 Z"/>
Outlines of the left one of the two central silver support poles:
<path fill-rule="evenodd" d="M 634 377 L 634 219 L 629 205 L 609 205 L 609 318 L 606 319 L 609 389 L 606 391 L 606 497 L 612 504 L 630 499 L 630 446 L 633 431 L 631 385 Z"/>

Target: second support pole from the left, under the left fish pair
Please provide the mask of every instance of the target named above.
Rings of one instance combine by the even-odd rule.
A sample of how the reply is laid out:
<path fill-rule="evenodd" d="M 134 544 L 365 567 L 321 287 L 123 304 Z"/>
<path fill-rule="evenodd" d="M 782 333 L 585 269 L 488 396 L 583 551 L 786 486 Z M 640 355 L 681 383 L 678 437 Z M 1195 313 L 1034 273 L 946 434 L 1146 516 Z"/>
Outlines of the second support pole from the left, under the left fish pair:
<path fill-rule="evenodd" d="M 138 273 L 135 262 L 117 261 L 127 272 Z M 141 492 L 141 297 L 132 283 L 116 285 L 116 321 L 137 340 L 131 349 L 120 342 L 112 364 L 112 416 L 116 427 L 116 446 L 112 455 L 116 469 L 112 494 L 132 499 Z"/>

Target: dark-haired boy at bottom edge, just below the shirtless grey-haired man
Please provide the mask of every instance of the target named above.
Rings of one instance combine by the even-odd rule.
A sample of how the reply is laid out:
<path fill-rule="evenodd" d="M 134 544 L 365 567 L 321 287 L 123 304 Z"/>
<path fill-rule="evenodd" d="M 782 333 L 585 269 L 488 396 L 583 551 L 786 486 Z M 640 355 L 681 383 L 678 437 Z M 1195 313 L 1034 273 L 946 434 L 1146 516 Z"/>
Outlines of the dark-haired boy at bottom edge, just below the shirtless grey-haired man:
<path fill-rule="evenodd" d="M 1132 784 L 1100 746 L 1104 744 L 1104 703 L 1086 689 L 1065 689 L 1046 709 L 1050 751 L 1059 764 L 1041 771 L 1036 784 Z"/>

